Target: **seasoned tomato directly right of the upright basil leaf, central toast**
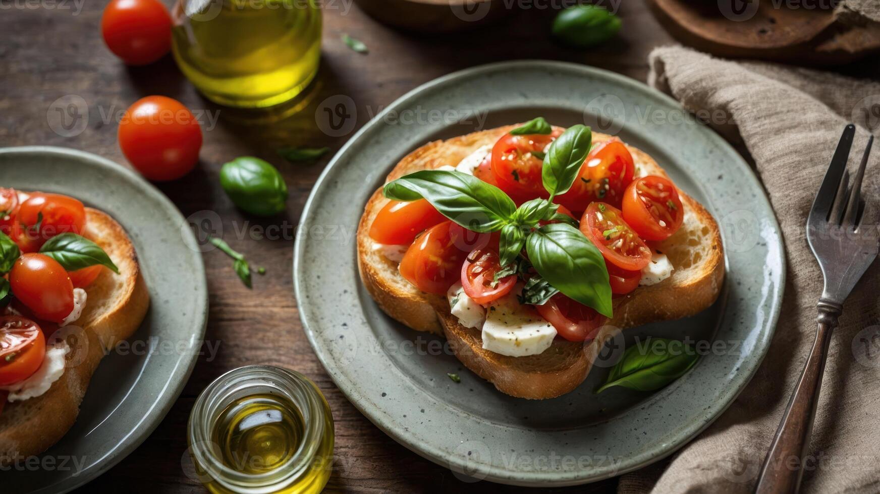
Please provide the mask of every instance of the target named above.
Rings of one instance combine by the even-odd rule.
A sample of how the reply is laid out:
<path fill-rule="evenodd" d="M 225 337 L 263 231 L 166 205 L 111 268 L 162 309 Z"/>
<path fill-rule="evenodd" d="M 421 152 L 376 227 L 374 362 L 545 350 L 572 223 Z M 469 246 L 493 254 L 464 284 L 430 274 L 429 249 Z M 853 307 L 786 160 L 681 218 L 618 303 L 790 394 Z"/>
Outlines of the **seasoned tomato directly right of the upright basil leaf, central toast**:
<path fill-rule="evenodd" d="M 634 173 L 633 155 L 615 137 L 590 149 L 575 183 L 557 199 L 572 211 L 583 211 L 594 200 L 620 207 Z"/>

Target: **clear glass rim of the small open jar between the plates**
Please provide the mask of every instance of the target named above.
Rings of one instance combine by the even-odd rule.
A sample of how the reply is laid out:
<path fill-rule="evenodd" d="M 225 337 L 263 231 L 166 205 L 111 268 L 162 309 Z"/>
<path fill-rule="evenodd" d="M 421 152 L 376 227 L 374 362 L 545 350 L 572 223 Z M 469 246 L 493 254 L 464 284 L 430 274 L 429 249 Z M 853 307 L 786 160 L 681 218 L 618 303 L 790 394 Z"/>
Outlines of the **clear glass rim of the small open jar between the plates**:
<path fill-rule="evenodd" d="M 282 465 L 261 474 L 246 474 L 231 469 L 216 455 L 218 445 L 211 439 L 211 429 L 216 416 L 231 399 L 247 396 L 242 391 L 248 388 L 260 387 L 280 392 L 297 406 L 303 415 L 304 436 L 297 451 Z M 255 392 L 258 391 L 249 394 Z M 282 367 L 253 365 L 232 369 L 212 381 L 195 400 L 187 427 L 190 451 L 208 476 L 228 489 L 282 489 L 311 467 L 318 451 L 326 419 L 324 398 L 319 393 L 303 374 Z"/>

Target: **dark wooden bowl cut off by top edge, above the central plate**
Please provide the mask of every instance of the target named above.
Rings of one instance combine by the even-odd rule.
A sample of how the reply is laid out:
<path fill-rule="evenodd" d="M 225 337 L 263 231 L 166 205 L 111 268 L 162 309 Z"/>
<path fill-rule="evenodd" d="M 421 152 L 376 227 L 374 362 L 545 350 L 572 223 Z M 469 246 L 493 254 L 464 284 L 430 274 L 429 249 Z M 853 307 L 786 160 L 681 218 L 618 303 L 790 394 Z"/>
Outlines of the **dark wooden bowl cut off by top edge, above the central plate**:
<path fill-rule="evenodd" d="M 452 33 L 474 29 L 514 8 L 503 0 L 355 0 L 370 17 L 418 33 Z"/>

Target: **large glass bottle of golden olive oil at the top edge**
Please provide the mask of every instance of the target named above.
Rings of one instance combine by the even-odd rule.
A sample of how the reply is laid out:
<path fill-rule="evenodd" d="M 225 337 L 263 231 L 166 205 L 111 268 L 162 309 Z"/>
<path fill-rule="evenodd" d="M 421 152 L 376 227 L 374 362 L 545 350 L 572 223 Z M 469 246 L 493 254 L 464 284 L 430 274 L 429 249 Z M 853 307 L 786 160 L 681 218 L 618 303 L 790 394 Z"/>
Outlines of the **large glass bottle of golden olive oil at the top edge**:
<path fill-rule="evenodd" d="M 317 0 L 179 0 L 173 17 L 174 59 L 221 105 L 282 104 L 318 71 Z"/>

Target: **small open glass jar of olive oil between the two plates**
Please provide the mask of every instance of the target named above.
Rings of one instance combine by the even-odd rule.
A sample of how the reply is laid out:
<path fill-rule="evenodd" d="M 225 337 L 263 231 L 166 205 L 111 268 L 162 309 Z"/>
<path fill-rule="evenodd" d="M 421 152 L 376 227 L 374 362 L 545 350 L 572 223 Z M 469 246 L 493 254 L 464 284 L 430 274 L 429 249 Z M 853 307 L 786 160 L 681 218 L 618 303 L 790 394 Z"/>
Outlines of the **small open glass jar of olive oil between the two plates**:
<path fill-rule="evenodd" d="M 334 422 L 303 374 L 239 367 L 196 400 L 187 427 L 196 475 L 218 494 L 318 493 L 333 469 Z"/>

